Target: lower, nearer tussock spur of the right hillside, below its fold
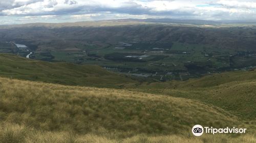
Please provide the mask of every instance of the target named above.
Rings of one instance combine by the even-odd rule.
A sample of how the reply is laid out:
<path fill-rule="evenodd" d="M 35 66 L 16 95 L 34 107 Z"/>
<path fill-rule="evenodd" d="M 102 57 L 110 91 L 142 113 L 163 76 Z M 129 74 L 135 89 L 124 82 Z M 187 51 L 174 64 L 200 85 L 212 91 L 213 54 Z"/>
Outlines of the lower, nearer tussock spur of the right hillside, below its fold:
<path fill-rule="evenodd" d="M 255 121 L 255 89 L 256 80 L 247 80 L 243 82 L 232 81 L 210 87 L 184 87 L 174 89 L 166 86 L 165 88 L 147 87 L 130 90 L 193 99 L 208 105 L 220 107 L 243 120 Z"/>

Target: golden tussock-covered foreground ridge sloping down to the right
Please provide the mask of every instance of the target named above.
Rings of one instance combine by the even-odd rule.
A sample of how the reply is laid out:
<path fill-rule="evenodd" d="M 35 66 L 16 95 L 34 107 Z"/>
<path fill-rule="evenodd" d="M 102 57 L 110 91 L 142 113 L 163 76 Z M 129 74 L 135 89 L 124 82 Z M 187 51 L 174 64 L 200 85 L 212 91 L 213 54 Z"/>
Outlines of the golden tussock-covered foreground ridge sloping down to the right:
<path fill-rule="evenodd" d="M 0 142 L 15 137 L 25 141 L 87 137 L 109 142 L 125 138 L 128 142 L 141 142 L 140 139 L 167 142 L 172 138 L 193 139 L 190 129 L 198 123 L 250 127 L 249 133 L 255 128 L 216 106 L 142 92 L 0 78 L 0 93 Z M 213 138 L 205 135 L 198 139 Z"/>

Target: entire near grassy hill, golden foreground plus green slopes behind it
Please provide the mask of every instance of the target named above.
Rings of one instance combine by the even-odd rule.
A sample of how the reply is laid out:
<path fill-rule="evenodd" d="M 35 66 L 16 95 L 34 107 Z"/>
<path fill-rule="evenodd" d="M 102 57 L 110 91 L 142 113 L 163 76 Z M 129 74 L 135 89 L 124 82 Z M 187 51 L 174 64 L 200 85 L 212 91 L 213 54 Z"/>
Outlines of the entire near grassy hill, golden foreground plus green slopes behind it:
<path fill-rule="evenodd" d="M 256 140 L 255 71 L 141 83 L 94 65 L 0 59 L 1 143 Z M 194 137 L 195 124 L 247 133 Z"/>

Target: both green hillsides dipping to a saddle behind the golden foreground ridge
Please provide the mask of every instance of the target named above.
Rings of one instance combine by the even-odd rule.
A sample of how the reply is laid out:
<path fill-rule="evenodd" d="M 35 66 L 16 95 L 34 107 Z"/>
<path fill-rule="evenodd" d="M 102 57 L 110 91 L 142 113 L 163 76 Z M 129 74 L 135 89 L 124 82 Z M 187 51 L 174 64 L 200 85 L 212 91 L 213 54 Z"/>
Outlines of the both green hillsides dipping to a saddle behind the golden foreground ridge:
<path fill-rule="evenodd" d="M 0 54 L 0 76 L 64 85 L 127 88 L 154 94 L 194 99 L 230 111 L 245 120 L 255 119 L 256 71 L 214 74 L 184 82 L 140 83 L 96 65 L 50 63 Z M 142 82 L 142 81 L 141 81 Z"/>

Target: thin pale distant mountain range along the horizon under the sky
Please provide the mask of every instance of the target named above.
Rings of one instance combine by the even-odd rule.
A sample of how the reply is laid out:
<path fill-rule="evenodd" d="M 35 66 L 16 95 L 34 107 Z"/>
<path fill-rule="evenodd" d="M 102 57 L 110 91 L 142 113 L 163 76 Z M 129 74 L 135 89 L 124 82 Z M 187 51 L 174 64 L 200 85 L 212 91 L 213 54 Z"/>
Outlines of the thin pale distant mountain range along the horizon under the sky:
<path fill-rule="evenodd" d="M 23 25 L 0 25 L 0 28 L 12 28 L 12 27 L 104 27 L 104 26 L 123 26 L 123 25 L 139 25 L 146 23 L 174 23 L 179 25 L 212 25 L 218 26 L 221 24 L 256 24 L 253 20 L 225 20 L 225 21 L 214 21 L 214 20 L 200 20 L 200 19 L 115 19 L 115 20 L 100 20 L 100 21 L 79 21 L 79 22 L 64 22 L 64 23 L 26 23 Z"/>

